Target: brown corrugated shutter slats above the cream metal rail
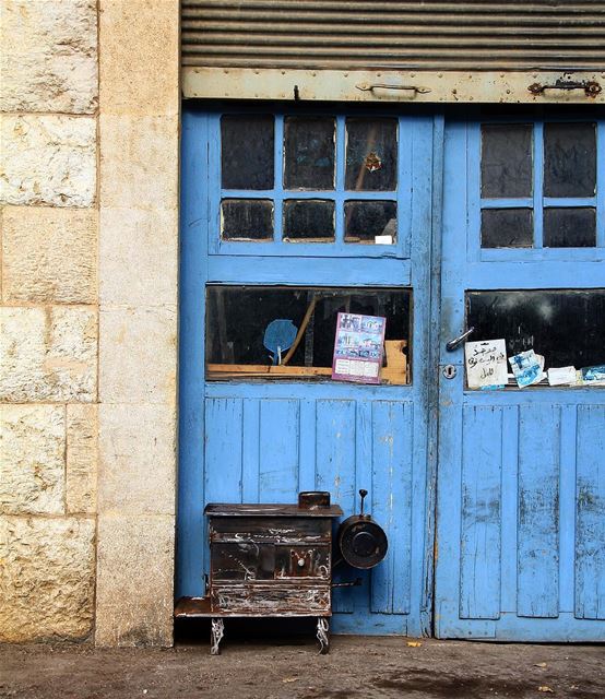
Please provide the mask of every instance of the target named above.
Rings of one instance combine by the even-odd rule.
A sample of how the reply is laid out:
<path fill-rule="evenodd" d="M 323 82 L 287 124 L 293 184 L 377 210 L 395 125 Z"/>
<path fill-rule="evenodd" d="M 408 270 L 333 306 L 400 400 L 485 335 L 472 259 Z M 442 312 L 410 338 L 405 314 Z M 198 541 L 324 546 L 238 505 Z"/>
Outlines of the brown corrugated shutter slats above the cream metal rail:
<path fill-rule="evenodd" d="M 182 0 L 182 63 L 605 69 L 604 2 Z"/>

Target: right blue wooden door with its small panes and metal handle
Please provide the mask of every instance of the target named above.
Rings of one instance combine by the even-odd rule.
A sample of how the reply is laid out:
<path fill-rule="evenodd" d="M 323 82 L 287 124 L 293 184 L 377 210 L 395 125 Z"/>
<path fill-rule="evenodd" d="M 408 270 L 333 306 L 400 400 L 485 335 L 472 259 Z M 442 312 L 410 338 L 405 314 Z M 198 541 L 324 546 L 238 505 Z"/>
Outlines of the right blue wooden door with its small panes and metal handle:
<path fill-rule="evenodd" d="M 604 363 L 604 137 L 586 118 L 446 129 L 441 638 L 605 639 L 605 389 L 470 390 L 464 345 L 446 350 L 478 318 L 470 340 L 496 334 L 509 356 Z"/>

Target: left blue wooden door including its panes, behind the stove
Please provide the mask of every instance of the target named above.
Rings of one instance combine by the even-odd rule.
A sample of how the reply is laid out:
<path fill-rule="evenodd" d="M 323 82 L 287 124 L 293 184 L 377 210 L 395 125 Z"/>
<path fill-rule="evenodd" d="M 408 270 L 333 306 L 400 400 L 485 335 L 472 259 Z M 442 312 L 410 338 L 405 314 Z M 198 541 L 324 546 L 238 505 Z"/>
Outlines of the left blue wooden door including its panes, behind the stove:
<path fill-rule="evenodd" d="M 320 489 L 347 517 L 366 488 L 389 552 L 363 574 L 363 587 L 335 591 L 334 630 L 430 632 L 429 254 L 439 123 L 294 107 L 186 109 L 178 595 L 203 593 L 204 503 L 295 502 L 299 490 Z M 297 225 L 296 208 L 309 214 L 307 228 Z M 357 215 L 364 208 L 368 217 Z M 387 225 L 372 230 L 381 217 Z M 221 319 L 236 312 L 225 304 L 240 299 L 242 332 L 258 318 L 261 333 L 266 298 L 278 293 L 287 304 L 290 292 L 357 295 L 370 307 L 371 298 L 406 294 L 407 380 L 275 380 L 251 376 L 250 366 L 237 376 L 230 331 L 218 336 Z M 221 360 L 205 372 L 204 357 L 215 351 Z M 359 571 L 340 574 L 353 580 Z"/>

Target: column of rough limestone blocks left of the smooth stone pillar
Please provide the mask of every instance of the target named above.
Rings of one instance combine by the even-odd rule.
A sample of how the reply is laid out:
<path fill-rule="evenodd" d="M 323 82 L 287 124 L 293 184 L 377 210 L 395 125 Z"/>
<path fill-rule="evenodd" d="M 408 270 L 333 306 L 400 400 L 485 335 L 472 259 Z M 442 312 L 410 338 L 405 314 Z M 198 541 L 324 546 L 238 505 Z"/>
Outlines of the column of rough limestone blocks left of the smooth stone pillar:
<path fill-rule="evenodd" d="M 0 641 L 94 624 L 95 0 L 0 4 Z"/>

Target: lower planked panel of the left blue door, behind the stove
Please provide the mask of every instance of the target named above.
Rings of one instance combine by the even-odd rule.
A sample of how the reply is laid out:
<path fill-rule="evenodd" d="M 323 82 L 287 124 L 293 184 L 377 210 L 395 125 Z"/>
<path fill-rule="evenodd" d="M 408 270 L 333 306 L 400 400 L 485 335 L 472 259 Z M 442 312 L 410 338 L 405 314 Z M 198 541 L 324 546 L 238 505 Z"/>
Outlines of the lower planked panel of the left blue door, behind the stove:
<path fill-rule="evenodd" d="M 290 387 L 293 390 L 305 392 L 304 388 Z M 304 413 L 305 424 L 300 419 Z M 302 445 L 302 453 L 313 454 L 312 481 L 306 486 L 329 490 L 345 516 L 358 511 L 357 490 L 365 487 L 369 491 L 366 508 L 384 528 L 389 552 L 380 567 L 361 573 L 366 583 L 363 590 L 335 591 L 334 611 L 352 614 L 367 607 L 369 590 L 372 613 L 410 614 L 411 401 L 368 401 L 361 395 L 317 400 L 209 398 L 204 422 L 207 501 L 296 501 L 298 490 L 305 487 L 298 481 L 304 470 Z M 358 571 L 345 570 L 343 579 L 351 580 L 353 574 L 357 577 Z"/>

